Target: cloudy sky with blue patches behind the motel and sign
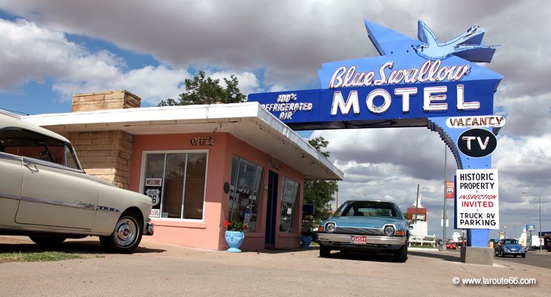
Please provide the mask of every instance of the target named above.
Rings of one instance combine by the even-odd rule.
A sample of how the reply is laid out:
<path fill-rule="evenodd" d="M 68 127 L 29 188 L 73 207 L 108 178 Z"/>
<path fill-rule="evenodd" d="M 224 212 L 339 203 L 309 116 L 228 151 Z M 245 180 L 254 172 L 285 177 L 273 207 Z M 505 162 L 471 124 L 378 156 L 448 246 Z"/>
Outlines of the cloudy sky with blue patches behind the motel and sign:
<path fill-rule="evenodd" d="M 364 19 L 417 38 L 417 20 L 439 40 L 474 23 L 500 45 L 484 67 L 503 74 L 495 112 L 500 225 L 551 231 L 551 6 L 539 1 L 0 1 L 0 108 L 25 114 L 70 112 L 72 94 L 129 90 L 142 106 L 175 99 L 202 70 L 235 74 L 245 94 L 320 88 L 321 64 L 376 57 Z M 428 232 L 441 237 L 444 167 L 457 165 L 435 132 L 422 127 L 318 130 L 345 174 L 339 203 L 419 196 Z M 530 192 L 532 194 L 522 194 Z M 453 220 L 453 202 L 446 205 Z M 450 222 L 452 222 L 450 220 Z M 537 226 L 539 229 L 539 226 Z M 497 231 L 490 236 L 497 237 Z M 448 238 L 455 232 L 453 223 Z M 516 232 L 516 233 L 515 233 Z"/>

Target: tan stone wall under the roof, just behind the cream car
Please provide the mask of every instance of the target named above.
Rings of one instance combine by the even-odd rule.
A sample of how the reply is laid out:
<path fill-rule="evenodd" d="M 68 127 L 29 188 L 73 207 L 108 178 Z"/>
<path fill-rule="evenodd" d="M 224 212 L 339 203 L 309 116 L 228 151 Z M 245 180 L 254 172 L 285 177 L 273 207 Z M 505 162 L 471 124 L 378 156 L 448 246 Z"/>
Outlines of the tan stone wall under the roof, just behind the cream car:
<path fill-rule="evenodd" d="M 67 139 L 87 174 L 128 189 L 132 134 L 121 130 L 69 132 Z"/>

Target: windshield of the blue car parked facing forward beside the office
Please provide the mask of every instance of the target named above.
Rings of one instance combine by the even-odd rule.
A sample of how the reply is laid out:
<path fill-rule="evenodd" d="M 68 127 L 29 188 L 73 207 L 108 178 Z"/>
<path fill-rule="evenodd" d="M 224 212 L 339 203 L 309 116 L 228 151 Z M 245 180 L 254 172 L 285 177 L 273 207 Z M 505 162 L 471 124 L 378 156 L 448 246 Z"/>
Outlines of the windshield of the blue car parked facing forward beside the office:
<path fill-rule="evenodd" d="M 384 201 L 347 201 L 337 209 L 335 216 L 389 216 L 402 218 L 396 205 Z"/>

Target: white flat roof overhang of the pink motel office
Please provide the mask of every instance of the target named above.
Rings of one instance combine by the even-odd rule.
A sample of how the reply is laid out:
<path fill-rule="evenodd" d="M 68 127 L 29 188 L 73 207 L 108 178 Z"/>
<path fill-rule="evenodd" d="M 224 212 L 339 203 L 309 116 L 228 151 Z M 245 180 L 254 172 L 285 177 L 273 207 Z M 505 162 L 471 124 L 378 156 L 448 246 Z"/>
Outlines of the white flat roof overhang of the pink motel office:
<path fill-rule="evenodd" d="M 21 116 L 54 132 L 123 130 L 129 134 L 226 132 L 302 172 L 306 179 L 342 180 L 344 173 L 257 102 L 140 107 Z"/>

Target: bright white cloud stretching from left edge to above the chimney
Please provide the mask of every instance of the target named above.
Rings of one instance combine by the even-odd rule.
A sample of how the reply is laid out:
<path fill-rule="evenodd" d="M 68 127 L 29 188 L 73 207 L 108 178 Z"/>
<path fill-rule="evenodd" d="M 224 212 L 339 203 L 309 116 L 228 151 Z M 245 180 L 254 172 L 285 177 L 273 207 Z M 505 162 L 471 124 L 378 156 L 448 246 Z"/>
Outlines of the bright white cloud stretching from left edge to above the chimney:
<path fill-rule="evenodd" d="M 76 93 L 125 89 L 155 105 L 178 96 L 182 92 L 178 86 L 190 76 L 166 65 L 125 70 L 120 57 L 107 51 L 89 52 L 67 41 L 63 32 L 25 20 L 0 19 L 0 35 L 0 90 L 4 92 L 52 76 L 56 79 L 53 89 L 62 99 Z"/>

